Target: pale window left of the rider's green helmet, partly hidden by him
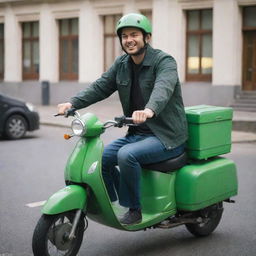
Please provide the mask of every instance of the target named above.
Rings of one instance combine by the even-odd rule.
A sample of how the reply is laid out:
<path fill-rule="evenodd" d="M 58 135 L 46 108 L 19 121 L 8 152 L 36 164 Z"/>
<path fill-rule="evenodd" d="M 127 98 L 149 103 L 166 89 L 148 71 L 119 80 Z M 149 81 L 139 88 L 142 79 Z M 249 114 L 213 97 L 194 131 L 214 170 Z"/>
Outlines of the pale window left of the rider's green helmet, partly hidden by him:
<path fill-rule="evenodd" d="M 122 15 L 103 16 L 104 23 L 104 70 L 107 70 L 115 58 L 122 53 L 119 38 L 116 35 L 116 24 Z"/>

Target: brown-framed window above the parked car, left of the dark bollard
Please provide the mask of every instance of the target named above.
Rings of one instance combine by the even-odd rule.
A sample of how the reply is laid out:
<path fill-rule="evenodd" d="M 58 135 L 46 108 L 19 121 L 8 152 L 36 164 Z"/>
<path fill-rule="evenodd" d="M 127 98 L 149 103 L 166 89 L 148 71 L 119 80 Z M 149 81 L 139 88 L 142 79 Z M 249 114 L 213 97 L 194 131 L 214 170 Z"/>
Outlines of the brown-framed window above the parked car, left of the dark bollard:
<path fill-rule="evenodd" d="M 39 22 L 22 23 L 22 76 L 39 78 Z"/>

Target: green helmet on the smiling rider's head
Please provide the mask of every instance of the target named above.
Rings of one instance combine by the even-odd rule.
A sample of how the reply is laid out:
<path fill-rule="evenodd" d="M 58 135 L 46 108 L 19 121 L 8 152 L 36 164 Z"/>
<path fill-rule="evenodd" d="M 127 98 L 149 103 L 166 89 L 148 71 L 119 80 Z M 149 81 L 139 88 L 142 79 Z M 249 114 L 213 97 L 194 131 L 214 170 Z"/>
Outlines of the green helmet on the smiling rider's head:
<path fill-rule="evenodd" d="M 120 37 L 122 28 L 133 27 L 139 28 L 146 34 L 152 33 L 152 27 L 148 18 L 142 14 L 129 13 L 124 15 L 116 25 L 116 33 Z"/>

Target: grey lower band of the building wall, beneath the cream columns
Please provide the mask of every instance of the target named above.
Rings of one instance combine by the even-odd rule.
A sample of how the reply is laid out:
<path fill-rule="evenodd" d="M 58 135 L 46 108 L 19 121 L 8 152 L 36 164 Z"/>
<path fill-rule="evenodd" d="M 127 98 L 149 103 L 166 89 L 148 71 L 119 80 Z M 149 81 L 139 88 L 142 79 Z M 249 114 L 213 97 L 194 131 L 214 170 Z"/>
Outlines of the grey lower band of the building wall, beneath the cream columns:
<path fill-rule="evenodd" d="M 50 104 L 66 102 L 88 86 L 88 83 L 60 82 L 50 84 Z M 229 106 L 234 98 L 235 86 L 211 86 L 209 83 L 185 83 L 182 94 L 186 106 L 210 104 Z M 39 82 L 0 83 L 0 93 L 42 104 L 42 85 Z M 117 95 L 114 97 L 118 97 Z"/>

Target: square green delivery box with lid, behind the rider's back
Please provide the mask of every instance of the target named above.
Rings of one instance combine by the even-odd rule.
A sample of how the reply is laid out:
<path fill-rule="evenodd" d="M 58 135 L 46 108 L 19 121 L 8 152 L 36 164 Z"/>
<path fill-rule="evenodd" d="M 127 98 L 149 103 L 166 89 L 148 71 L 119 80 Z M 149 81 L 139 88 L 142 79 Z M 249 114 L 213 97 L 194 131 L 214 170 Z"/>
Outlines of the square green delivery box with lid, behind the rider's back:
<path fill-rule="evenodd" d="M 187 151 L 190 158 L 207 159 L 229 153 L 233 109 L 199 105 L 186 107 Z"/>

